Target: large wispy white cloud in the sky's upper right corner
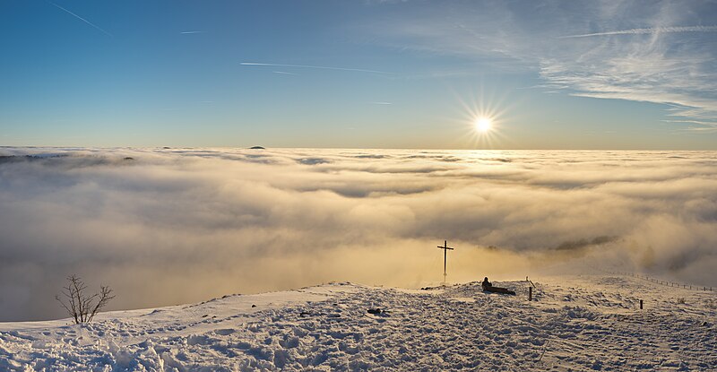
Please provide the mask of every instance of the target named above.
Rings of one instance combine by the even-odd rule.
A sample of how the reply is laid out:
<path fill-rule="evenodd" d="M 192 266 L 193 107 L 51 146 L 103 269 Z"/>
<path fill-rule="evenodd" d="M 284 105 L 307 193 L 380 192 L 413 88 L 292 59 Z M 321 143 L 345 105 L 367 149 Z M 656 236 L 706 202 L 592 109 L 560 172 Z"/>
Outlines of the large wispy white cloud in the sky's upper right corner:
<path fill-rule="evenodd" d="M 578 4 L 478 0 L 428 12 L 409 2 L 359 30 L 402 51 L 472 59 L 473 74 L 534 72 L 546 92 L 670 105 L 666 111 L 677 119 L 717 118 L 713 4 Z M 574 32 L 595 25 L 601 30 Z M 634 37 L 609 37 L 620 35 Z"/>

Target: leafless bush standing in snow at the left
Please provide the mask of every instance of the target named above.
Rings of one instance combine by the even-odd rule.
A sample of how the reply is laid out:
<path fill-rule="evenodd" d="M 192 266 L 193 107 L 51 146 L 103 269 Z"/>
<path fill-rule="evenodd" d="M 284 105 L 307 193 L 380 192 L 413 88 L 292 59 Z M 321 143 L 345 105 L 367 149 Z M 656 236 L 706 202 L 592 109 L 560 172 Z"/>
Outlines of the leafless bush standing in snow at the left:
<path fill-rule="evenodd" d="M 55 299 L 65 307 L 67 313 L 73 317 L 74 324 L 89 323 L 102 307 L 105 307 L 112 296 L 109 287 L 99 287 L 99 293 L 87 295 L 87 286 L 77 275 L 67 277 L 67 287 L 63 288 L 62 297 L 56 295 Z"/>

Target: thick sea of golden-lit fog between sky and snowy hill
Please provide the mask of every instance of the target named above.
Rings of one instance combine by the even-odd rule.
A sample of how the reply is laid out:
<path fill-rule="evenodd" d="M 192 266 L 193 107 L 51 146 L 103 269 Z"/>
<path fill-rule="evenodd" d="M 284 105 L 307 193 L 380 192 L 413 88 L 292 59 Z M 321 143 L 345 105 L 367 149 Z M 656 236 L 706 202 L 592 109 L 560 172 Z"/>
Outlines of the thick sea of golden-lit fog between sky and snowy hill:
<path fill-rule="evenodd" d="M 584 259 L 717 286 L 714 151 L 0 156 L 0 320 L 64 316 L 54 295 L 70 273 L 114 288 L 114 309 L 325 281 L 419 287 L 442 280 L 444 239 L 452 281 Z"/>

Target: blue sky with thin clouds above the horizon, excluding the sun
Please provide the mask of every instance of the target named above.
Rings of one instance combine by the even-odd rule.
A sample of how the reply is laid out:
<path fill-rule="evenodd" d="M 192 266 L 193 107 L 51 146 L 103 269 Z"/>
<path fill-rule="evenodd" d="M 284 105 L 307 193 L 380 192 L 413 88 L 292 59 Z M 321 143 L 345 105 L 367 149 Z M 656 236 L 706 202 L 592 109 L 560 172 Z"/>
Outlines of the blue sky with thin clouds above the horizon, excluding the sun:
<path fill-rule="evenodd" d="M 0 46 L 2 145 L 717 149 L 715 2 L 0 0 Z"/>

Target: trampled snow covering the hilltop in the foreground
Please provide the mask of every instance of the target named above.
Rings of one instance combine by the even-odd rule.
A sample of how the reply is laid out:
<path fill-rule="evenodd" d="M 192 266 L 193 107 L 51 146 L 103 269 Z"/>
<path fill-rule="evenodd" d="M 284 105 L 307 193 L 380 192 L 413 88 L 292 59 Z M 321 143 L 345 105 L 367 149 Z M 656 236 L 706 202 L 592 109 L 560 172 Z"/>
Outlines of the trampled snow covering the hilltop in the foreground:
<path fill-rule="evenodd" d="M 108 312 L 92 324 L 4 323 L 0 370 L 717 369 L 714 292 L 608 273 L 531 280 L 531 302 L 526 281 L 494 281 L 516 296 L 479 281 L 331 283 Z"/>

